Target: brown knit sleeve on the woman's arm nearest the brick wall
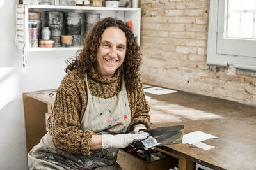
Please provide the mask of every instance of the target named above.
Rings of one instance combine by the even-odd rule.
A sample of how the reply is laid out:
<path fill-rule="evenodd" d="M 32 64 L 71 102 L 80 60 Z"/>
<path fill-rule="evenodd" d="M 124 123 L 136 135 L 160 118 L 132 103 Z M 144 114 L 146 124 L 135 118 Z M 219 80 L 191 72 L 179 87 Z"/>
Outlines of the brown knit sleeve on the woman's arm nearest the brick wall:
<path fill-rule="evenodd" d="M 132 131 L 134 125 L 142 123 L 146 127 L 151 127 L 148 102 L 145 99 L 145 94 L 143 91 L 141 75 L 138 74 L 138 83 L 136 89 L 133 92 L 130 92 L 130 105 L 132 112 L 132 120 L 128 127 L 128 132 Z"/>

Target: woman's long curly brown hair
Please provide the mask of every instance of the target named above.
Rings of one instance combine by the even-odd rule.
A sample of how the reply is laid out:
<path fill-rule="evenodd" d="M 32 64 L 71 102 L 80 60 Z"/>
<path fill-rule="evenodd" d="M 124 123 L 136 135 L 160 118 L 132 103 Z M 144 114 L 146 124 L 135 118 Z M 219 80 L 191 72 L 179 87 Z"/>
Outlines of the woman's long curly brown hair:
<path fill-rule="evenodd" d="M 68 73 L 74 69 L 78 69 L 80 73 L 86 73 L 90 71 L 92 66 L 97 64 L 97 52 L 102 38 L 104 30 L 108 27 L 118 27 L 121 29 L 127 39 L 127 48 L 124 62 L 122 64 L 123 74 L 125 78 L 125 85 L 127 89 L 134 89 L 138 83 L 138 71 L 141 65 L 141 53 L 134 34 L 130 27 L 122 20 L 115 18 L 104 18 L 94 25 L 92 31 L 84 38 L 83 49 L 77 52 L 77 56 L 72 58 L 71 62 L 65 60 L 68 66 L 65 68 L 65 72 Z"/>

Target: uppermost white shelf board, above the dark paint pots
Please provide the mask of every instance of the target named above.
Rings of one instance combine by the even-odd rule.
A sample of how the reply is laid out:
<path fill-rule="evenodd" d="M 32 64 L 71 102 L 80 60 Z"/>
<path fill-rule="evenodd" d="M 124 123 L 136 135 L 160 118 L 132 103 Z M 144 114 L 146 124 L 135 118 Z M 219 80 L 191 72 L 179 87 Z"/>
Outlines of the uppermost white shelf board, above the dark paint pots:
<path fill-rule="evenodd" d="M 108 10 L 108 11 L 138 11 L 140 8 L 111 8 L 105 6 L 60 6 L 60 5 L 25 5 L 26 8 L 64 9 L 64 10 Z"/>

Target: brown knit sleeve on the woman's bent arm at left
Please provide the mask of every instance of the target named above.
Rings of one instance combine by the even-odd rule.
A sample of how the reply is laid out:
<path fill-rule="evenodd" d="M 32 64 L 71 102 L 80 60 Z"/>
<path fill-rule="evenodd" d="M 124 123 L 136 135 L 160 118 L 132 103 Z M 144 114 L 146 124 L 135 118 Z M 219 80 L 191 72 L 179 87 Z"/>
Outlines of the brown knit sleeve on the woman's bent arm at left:
<path fill-rule="evenodd" d="M 90 141 L 93 131 L 82 131 L 81 115 L 87 102 L 83 79 L 67 74 L 56 92 L 51 114 L 51 136 L 54 146 L 68 153 L 92 155 Z"/>

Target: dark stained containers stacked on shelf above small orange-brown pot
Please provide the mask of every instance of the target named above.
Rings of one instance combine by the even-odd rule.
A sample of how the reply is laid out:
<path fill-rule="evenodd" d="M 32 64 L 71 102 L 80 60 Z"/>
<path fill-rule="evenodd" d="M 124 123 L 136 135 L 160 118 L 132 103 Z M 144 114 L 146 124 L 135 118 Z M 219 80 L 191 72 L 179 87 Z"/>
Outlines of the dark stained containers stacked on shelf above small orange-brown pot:
<path fill-rule="evenodd" d="M 82 13 L 67 12 L 65 13 L 66 19 L 66 35 L 61 36 L 62 45 L 80 46 L 81 45 L 81 18 Z"/>

